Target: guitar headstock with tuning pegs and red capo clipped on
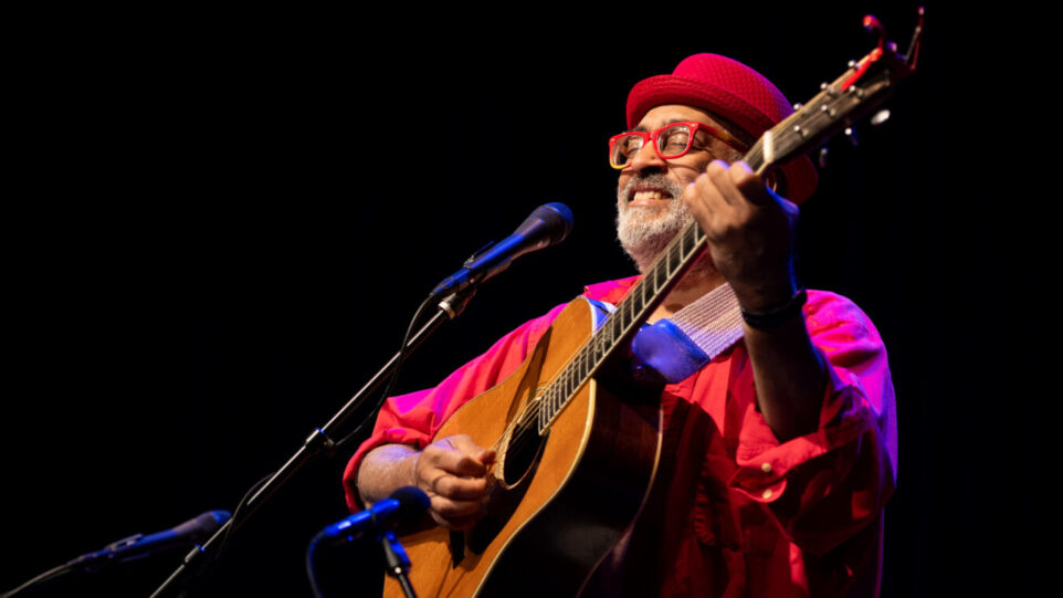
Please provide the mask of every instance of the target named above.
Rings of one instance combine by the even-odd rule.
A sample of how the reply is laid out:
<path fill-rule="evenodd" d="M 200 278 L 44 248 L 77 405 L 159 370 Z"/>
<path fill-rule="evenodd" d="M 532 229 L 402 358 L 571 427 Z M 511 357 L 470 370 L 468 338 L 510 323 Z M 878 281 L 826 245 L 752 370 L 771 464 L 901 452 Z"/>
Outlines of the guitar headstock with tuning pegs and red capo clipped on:
<path fill-rule="evenodd" d="M 820 93 L 794 113 L 766 132 L 747 155 L 746 161 L 764 175 L 823 145 L 885 102 L 898 82 L 915 72 L 923 35 L 924 10 L 906 54 L 887 42 L 882 24 L 872 15 L 864 17 L 864 28 L 878 34 L 878 45 L 831 83 L 820 85 Z"/>

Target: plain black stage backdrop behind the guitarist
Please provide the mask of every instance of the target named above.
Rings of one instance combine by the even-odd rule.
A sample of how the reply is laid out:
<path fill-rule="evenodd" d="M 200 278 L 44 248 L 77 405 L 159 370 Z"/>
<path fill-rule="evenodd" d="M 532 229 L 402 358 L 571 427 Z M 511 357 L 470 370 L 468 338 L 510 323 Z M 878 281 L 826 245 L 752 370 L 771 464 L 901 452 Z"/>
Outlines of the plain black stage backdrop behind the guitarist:
<path fill-rule="evenodd" d="M 857 4 L 614 24 L 522 10 L 420 25 L 308 10 L 33 21 L 15 61 L 31 135 L 6 219 L 0 589 L 233 508 L 383 365 L 428 291 L 536 206 L 570 206 L 570 238 L 484 285 L 408 361 L 400 390 L 583 284 L 632 273 L 604 151 L 630 86 L 709 51 L 804 99 L 871 49 L 865 12 L 907 42 L 915 4 Z M 456 24 L 424 24 L 435 19 Z M 929 7 L 920 72 L 893 118 L 862 127 L 859 148 L 833 143 L 802 208 L 804 284 L 856 301 L 891 353 L 901 463 L 886 596 L 1003 594 L 1036 573 L 1027 524 L 1050 490 L 1027 459 L 1036 364 L 1017 363 L 1038 333 L 993 324 L 1014 274 L 1002 251 L 1025 240 L 1000 232 L 1019 198 L 989 185 L 1011 123 L 982 109 L 992 52 L 979 40 L 998 27 Z M 294 479 L 199 595 L 308 596 L 303 553 L 346 514 L 350 450 Z M 330 592 L 373 595 L 371 557 L 327 555 Z M 59 590 L 147 596 L 176 565 Z"/>

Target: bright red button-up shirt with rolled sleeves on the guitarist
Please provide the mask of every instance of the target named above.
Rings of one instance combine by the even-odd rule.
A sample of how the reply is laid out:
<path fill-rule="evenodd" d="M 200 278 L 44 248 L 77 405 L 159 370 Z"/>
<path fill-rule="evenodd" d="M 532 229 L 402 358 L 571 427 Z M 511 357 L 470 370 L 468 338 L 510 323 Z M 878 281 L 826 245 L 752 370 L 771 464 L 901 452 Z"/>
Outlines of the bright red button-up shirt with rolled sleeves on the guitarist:
<path fill-rule="evenodd" d="M 618 303 L 636 279 L 588 286 Z M 365 454 L 422 448 L 461 405 L 530 354 L 564 305 L 498 340 L 428 390 L 393 397 L 344 475 L 348 506 Z M 886 352 L 839 295 L 809 291 L 804 318 L 831 364 L 817 431 L 780 443 L 757 410 L 739 342 L 661 396 L 664 445 L 642 515 L 596 576 L 610 596 L 876 596 L 882 511 L 896 482 L 896 415 Z M 610 565 L 610 563 L 613 563 Z"/>

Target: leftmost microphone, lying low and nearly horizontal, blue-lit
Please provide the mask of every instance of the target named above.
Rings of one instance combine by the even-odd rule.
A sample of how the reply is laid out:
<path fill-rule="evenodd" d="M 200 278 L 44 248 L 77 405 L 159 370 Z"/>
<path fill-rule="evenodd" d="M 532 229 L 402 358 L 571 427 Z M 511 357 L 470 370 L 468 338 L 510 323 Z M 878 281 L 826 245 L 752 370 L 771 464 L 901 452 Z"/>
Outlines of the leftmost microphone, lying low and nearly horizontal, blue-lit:
<path fill-rule="evenodd" d="M 103 550 L 82 555 L 67 567 L 95 573 L 107 565 L 146 557 L 156 553 L 198 544 L 218 531 L 232 515 L 228 511 L 208 511 L 172 529 L 145 536 L 136 534 L 108 545 Z"/>

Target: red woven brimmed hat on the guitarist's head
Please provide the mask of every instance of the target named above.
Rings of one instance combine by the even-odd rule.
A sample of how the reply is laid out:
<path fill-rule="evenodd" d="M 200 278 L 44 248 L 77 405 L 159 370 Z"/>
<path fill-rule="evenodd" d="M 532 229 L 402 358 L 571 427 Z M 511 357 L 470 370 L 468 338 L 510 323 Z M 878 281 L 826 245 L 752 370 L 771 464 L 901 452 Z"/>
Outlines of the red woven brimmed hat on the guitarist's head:
<path fill-rule="evenodd" d="M 778 87 L 745 64 L 717 54 L 684 59 L 671 75 L 644 78 L 628 94 L 628 127 L 662 104 L 686 104 L 722 116 L 743 130 L 760 137 L 793 113 Z M 808 156 L 780 167 L 782 195 L 800 203 L 815 189 L 819 177 Z"/>

